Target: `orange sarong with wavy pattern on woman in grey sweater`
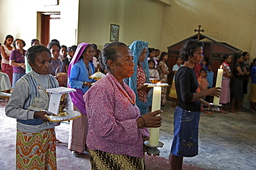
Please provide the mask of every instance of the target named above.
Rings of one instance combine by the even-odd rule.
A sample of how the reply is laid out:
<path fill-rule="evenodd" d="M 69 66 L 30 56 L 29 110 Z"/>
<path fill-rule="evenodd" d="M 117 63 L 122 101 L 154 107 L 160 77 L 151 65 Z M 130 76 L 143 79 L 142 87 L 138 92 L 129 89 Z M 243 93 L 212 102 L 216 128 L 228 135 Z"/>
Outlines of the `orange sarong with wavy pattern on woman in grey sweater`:
<path fill-rule="evenodd" d="M 55 130 L 22 133 L 17 130 L 16 169 L 57 169 Z"/>

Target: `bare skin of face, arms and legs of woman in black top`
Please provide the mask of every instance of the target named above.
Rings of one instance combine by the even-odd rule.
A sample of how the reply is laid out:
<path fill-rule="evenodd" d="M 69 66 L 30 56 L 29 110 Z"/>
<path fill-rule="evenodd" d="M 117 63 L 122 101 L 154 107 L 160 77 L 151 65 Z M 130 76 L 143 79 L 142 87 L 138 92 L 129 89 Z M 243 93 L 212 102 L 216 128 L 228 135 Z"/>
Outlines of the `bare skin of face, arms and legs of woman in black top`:
<path fill-rule="evenodd" d="M 194 68 L 194 64 L 199 64 L 203 59 L 202 54 L 203 54 L 203 48 L 202 47 L 197 48 L 193 56 L 190 56 L 188 58 L 188 61 L 186 61 L 183 66 Z M 220 90 L 221 90 L 221 87 L 213 87 L 213 88 L 209 88 L 208 90 L 202 91 L 200 93 L 194 93 L 191 102 L 199 100 L 201 104 L 204 104 L 205 106 L 208 106 L 209 108 L 211 108 L 210 103 L 205 102 L 205 100 L 202 100 L 201 98 L 205 97 L 206 95 L 220 97 L 221 96 Z M 170 162 L 171 170 L 174 170 L 174 169 L 181 170 L 182 164 L 183 164 L 183 157 L 172 155 L 172 153 L 170 153 L 169 162 Z"/>

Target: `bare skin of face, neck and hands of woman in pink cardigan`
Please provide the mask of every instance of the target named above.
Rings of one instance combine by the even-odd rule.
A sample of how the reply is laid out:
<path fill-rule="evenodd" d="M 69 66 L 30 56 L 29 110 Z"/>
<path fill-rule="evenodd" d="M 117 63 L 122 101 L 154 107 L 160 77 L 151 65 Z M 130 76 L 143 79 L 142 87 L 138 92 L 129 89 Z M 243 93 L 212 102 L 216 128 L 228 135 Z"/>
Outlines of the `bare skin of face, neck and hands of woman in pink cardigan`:
<path fill-rule="evenodd" d="M 120 47 L 118 53 L 120 57 L 118 57 L 116 61 L 109 59 L 107 64 L 109 65 L 109 68 L 113 70 L 113 77 L 115 77 L 122 85 L 123 79 L 131 77 L 134 73 L 134 62 L 132 61 L 133 57 L 131 55 L 131 50 L 127 46 Z M 160 127 L 162 124 L 162 117 L 156 117 L 156 115 L 162 112 L 163 111 L 158 110 L 143 115 L 143 118 L 139 117 L 136 120 L 138 129 L 143 127 Z M 148 154 L 151 155 L 151 153 Z"/>

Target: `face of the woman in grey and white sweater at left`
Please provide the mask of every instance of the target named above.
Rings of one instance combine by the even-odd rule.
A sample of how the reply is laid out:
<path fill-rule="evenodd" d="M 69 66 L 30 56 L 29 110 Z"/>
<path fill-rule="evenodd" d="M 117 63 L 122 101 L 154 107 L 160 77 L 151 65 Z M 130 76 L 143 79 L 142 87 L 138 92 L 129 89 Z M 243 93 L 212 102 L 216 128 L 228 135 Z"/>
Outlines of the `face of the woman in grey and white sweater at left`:
<path fill-rule="evenodd" d="M 43 51 L 42 53 L 37 54 L 35 63 L 30 63 L 30 66 L 36 73 L 40 75 L 48 75 L 51 73 L 51 62 L 51 55 L 48 52 Z"/>

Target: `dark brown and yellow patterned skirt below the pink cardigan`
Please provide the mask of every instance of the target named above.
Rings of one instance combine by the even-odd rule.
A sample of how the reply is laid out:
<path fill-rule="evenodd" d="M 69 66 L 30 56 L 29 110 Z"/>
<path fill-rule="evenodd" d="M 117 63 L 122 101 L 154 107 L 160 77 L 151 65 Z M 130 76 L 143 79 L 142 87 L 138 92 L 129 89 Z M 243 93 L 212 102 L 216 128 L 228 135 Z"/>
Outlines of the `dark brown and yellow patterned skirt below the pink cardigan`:
<path fill-rule="evenodd" d="M 129 155 L 117 155 L 104 151 L 91 150 L 90 161 L 92 170 L 143 170 L 144 158 L 132 157 Z"/>

